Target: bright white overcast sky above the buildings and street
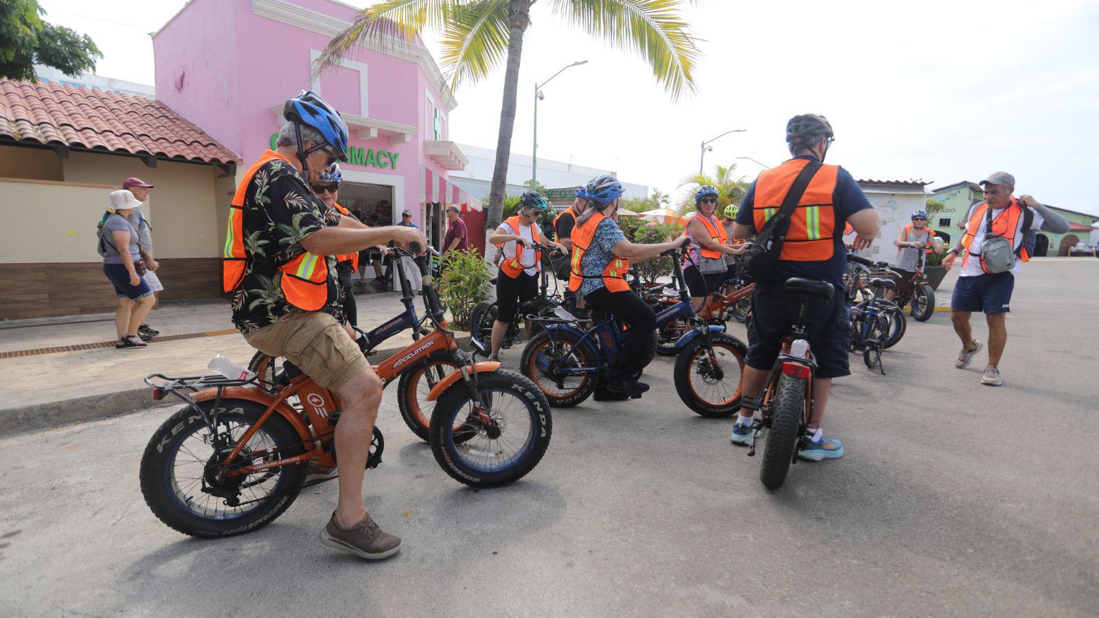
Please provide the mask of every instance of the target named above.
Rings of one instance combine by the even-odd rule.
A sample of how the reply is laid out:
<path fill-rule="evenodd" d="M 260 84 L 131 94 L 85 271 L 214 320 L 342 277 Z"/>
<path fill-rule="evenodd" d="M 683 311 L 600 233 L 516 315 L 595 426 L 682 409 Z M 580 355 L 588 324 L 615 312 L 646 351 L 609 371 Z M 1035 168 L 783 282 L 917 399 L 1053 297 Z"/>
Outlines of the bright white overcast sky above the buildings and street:
<path fill-rule="evenodd" d="M 148 33 L 182 0 L 41 0 L 47 20 L 90 34 L 97 71 L 153 84 Z M 364 5 L 367 2 L 352 0 Z M 645 63 L 565 26 L 535 3 L 520 75 L 512 152 L 531 153 L 542 81 L 539 155 L 614 169 L 676 192 L 698 172 L 736 163 L 748 179 L 787 158 L 786 120 L 826 115 L 828 162 L 856 178 L 920 178 L 939 187 L 1004 169 L 1017 194 L 1099 214 L 1087 188 L 1099 156 L 1099 1 L 737 2 L 687 10 L 702 58 L 697 92 L 673 102 Z M 429 46 L 432 36 L 428 35 Z M 457 92 L 451 139 L 495 147 L 502 66 Z"/>

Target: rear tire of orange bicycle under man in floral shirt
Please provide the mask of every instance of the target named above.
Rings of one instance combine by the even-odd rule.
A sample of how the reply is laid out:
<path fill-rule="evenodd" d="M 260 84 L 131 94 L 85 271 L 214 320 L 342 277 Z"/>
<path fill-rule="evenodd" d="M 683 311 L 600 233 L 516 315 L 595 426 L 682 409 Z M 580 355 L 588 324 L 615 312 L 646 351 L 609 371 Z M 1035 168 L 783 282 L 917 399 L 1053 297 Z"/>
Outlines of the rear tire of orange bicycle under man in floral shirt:
<path fill-rule="evenodd" d="M 198 405 L 207 413 L 213 410 L 213 401 L 201 401 Z M 247 424 L 254 424 L 266 410 L 265 406 L 254 401 L 223 399 L 221 405 L 219 420 L 242 421 Z M 203 519 L 177 506 L 168 494 L 170 489 L 168 488 L 166 466 L 171 463 L 169 456 L 177 451 L 178 443 L 184 438 L 204 427 L 206 421 L 202 419 L 202 415 L 186 407 L 169 417 L 156 430 L 153 439 L 145 446 L 140 470 L 141 490 L 145 496 L 145 504 L 152 509 L 153 515 L 169 528 L 184 534 L 213 538 L 253 532 L 270 523 L 282 515 L 282 511 L 290 508 L 306 479 L 306 466 L 301 464 L 281 468 L 285 476 L 279 492 L 270 495 L 267 501 L 244 517 L 230 520 Z M 278 413 L 271 415 L 264 422 L 262 431 L 270 435 L 279 445 L 280 457 L 290 457 L 304 452 L 298 432 Z"/>

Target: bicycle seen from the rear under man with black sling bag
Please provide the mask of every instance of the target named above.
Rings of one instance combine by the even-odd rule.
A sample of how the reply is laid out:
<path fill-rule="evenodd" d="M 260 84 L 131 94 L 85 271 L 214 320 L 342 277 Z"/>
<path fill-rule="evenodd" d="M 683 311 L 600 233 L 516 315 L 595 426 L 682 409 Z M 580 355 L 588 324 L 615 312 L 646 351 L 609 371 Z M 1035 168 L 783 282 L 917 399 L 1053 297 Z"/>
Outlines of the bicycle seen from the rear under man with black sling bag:
<path fill-rule="evenodd" d="M 798 298 L 801 306 L 759 396 L 759 415 L 747 453 L 754 456 L 756 440 L 766 435 L 759 481 L 768 489 L 778 489 L 786 482 L 813 416 L 817 360 L 807 340 L 806 312 L 814 297 L 828 300 L 834 291 L 832 284 L 797 277 L 787 279 L 784 289 Z"/>

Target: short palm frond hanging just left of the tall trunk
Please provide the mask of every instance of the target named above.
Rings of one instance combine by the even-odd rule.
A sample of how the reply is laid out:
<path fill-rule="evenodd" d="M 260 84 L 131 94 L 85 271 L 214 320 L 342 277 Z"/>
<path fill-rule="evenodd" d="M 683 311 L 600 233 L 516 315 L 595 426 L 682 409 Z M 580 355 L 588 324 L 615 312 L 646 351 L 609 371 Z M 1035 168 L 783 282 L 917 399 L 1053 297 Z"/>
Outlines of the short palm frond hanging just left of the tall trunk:
<path fill-rule="evenodd" d="M 440 64 L 457 89 L 463 81 L 477 81 L 508 55 L 508 2 L 476 0 L 456 7 L 443 30 Z"/>

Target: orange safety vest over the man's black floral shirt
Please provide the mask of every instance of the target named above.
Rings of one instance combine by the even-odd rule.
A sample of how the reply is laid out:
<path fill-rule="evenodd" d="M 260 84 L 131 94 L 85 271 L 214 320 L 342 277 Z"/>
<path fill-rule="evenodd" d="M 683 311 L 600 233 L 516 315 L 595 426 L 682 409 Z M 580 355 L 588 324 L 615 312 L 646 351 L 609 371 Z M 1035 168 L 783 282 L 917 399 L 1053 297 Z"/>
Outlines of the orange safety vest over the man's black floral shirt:
<path fill-rule="evenodd" d="M 256 163 L 244 173 L 233 202 L 229 207 L 229 225 L 225 230 L 225 247 L 222 253 L 222 291 L 231 293 L 235 290 L 252 261 L 244 244 L 244 195 L 248 190 L 248 184 L 259 168 L 280 158 L 290 165 L 290 159 L 275 151 L 266 151 L 259 156 Z M 279 277 L 282 293 L 290 305 L 306 311 L 317 311 L 329 300 L 329 265 L 323 255 L 313 255 L 308 251 L 279 267 L 282 276 Z"/>

